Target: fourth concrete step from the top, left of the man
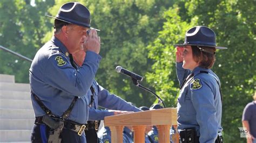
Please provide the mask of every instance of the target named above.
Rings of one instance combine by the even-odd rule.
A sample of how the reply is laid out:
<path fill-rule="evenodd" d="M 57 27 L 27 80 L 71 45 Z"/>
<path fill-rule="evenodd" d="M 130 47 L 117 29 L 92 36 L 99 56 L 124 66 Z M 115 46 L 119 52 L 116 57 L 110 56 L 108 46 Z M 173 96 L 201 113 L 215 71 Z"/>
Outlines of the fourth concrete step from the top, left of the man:
<path fill-rule="evenodd" d="M 31 100 L 1 99 L 1 109 L 33 109 Z"/>

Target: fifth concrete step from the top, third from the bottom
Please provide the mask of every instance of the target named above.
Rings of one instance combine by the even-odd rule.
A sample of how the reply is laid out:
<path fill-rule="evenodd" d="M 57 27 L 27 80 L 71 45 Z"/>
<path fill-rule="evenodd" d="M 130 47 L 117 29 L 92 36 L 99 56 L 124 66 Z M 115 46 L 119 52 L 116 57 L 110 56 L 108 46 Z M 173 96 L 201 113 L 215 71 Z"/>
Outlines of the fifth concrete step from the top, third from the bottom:
<path fill-rule="evenodd" d="M 32 109 L 0 109 L 0 119 L 35 119 Z"/>

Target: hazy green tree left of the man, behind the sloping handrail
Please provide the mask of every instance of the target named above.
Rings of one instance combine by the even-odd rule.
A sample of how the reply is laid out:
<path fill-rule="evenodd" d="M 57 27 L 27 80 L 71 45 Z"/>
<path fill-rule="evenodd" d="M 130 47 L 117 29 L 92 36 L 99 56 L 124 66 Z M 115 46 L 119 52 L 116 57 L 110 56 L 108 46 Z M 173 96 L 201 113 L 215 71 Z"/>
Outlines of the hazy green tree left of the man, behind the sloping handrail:
<path fill-rule="evenodd" d="M 53 2 L 0 1 L 0 45 L 33 59 L 49 23 L 44 13 Z M 16 76 L 16 82 L 29 82 L 31 63 L 0 50 L 0 73 Z"/>

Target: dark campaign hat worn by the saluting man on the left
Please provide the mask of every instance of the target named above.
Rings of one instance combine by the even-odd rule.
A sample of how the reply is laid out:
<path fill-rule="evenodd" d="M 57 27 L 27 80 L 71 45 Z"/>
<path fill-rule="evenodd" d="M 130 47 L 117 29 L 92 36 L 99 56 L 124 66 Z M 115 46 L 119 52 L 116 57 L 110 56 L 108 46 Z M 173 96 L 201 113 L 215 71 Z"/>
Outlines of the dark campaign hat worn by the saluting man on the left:
<path fill-rule="evenodd" d="M 48 15 L 46 15 L 48 16 Z M 84 27 L 91 27 L 90 11 L 82 4 L 78 2 L 69 2 L 63 4 L 56 17 L 48 16 L 63 22 L 76 24 Z"/>

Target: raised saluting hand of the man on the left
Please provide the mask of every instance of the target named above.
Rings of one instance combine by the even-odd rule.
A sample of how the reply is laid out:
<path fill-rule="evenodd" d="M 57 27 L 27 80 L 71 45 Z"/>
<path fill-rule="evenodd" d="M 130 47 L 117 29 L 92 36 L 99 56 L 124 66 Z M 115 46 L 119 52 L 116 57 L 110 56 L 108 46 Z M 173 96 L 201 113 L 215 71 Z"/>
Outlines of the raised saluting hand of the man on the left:
<path fill-rule="evenodd" d="M 88 35 L 88 38 L 85 39 L 84 44 L 84 52 L 92 51 L 99 54 L 100 51 L 100 37 L 97 35 L 97 31 L 92 29 Z"/>

